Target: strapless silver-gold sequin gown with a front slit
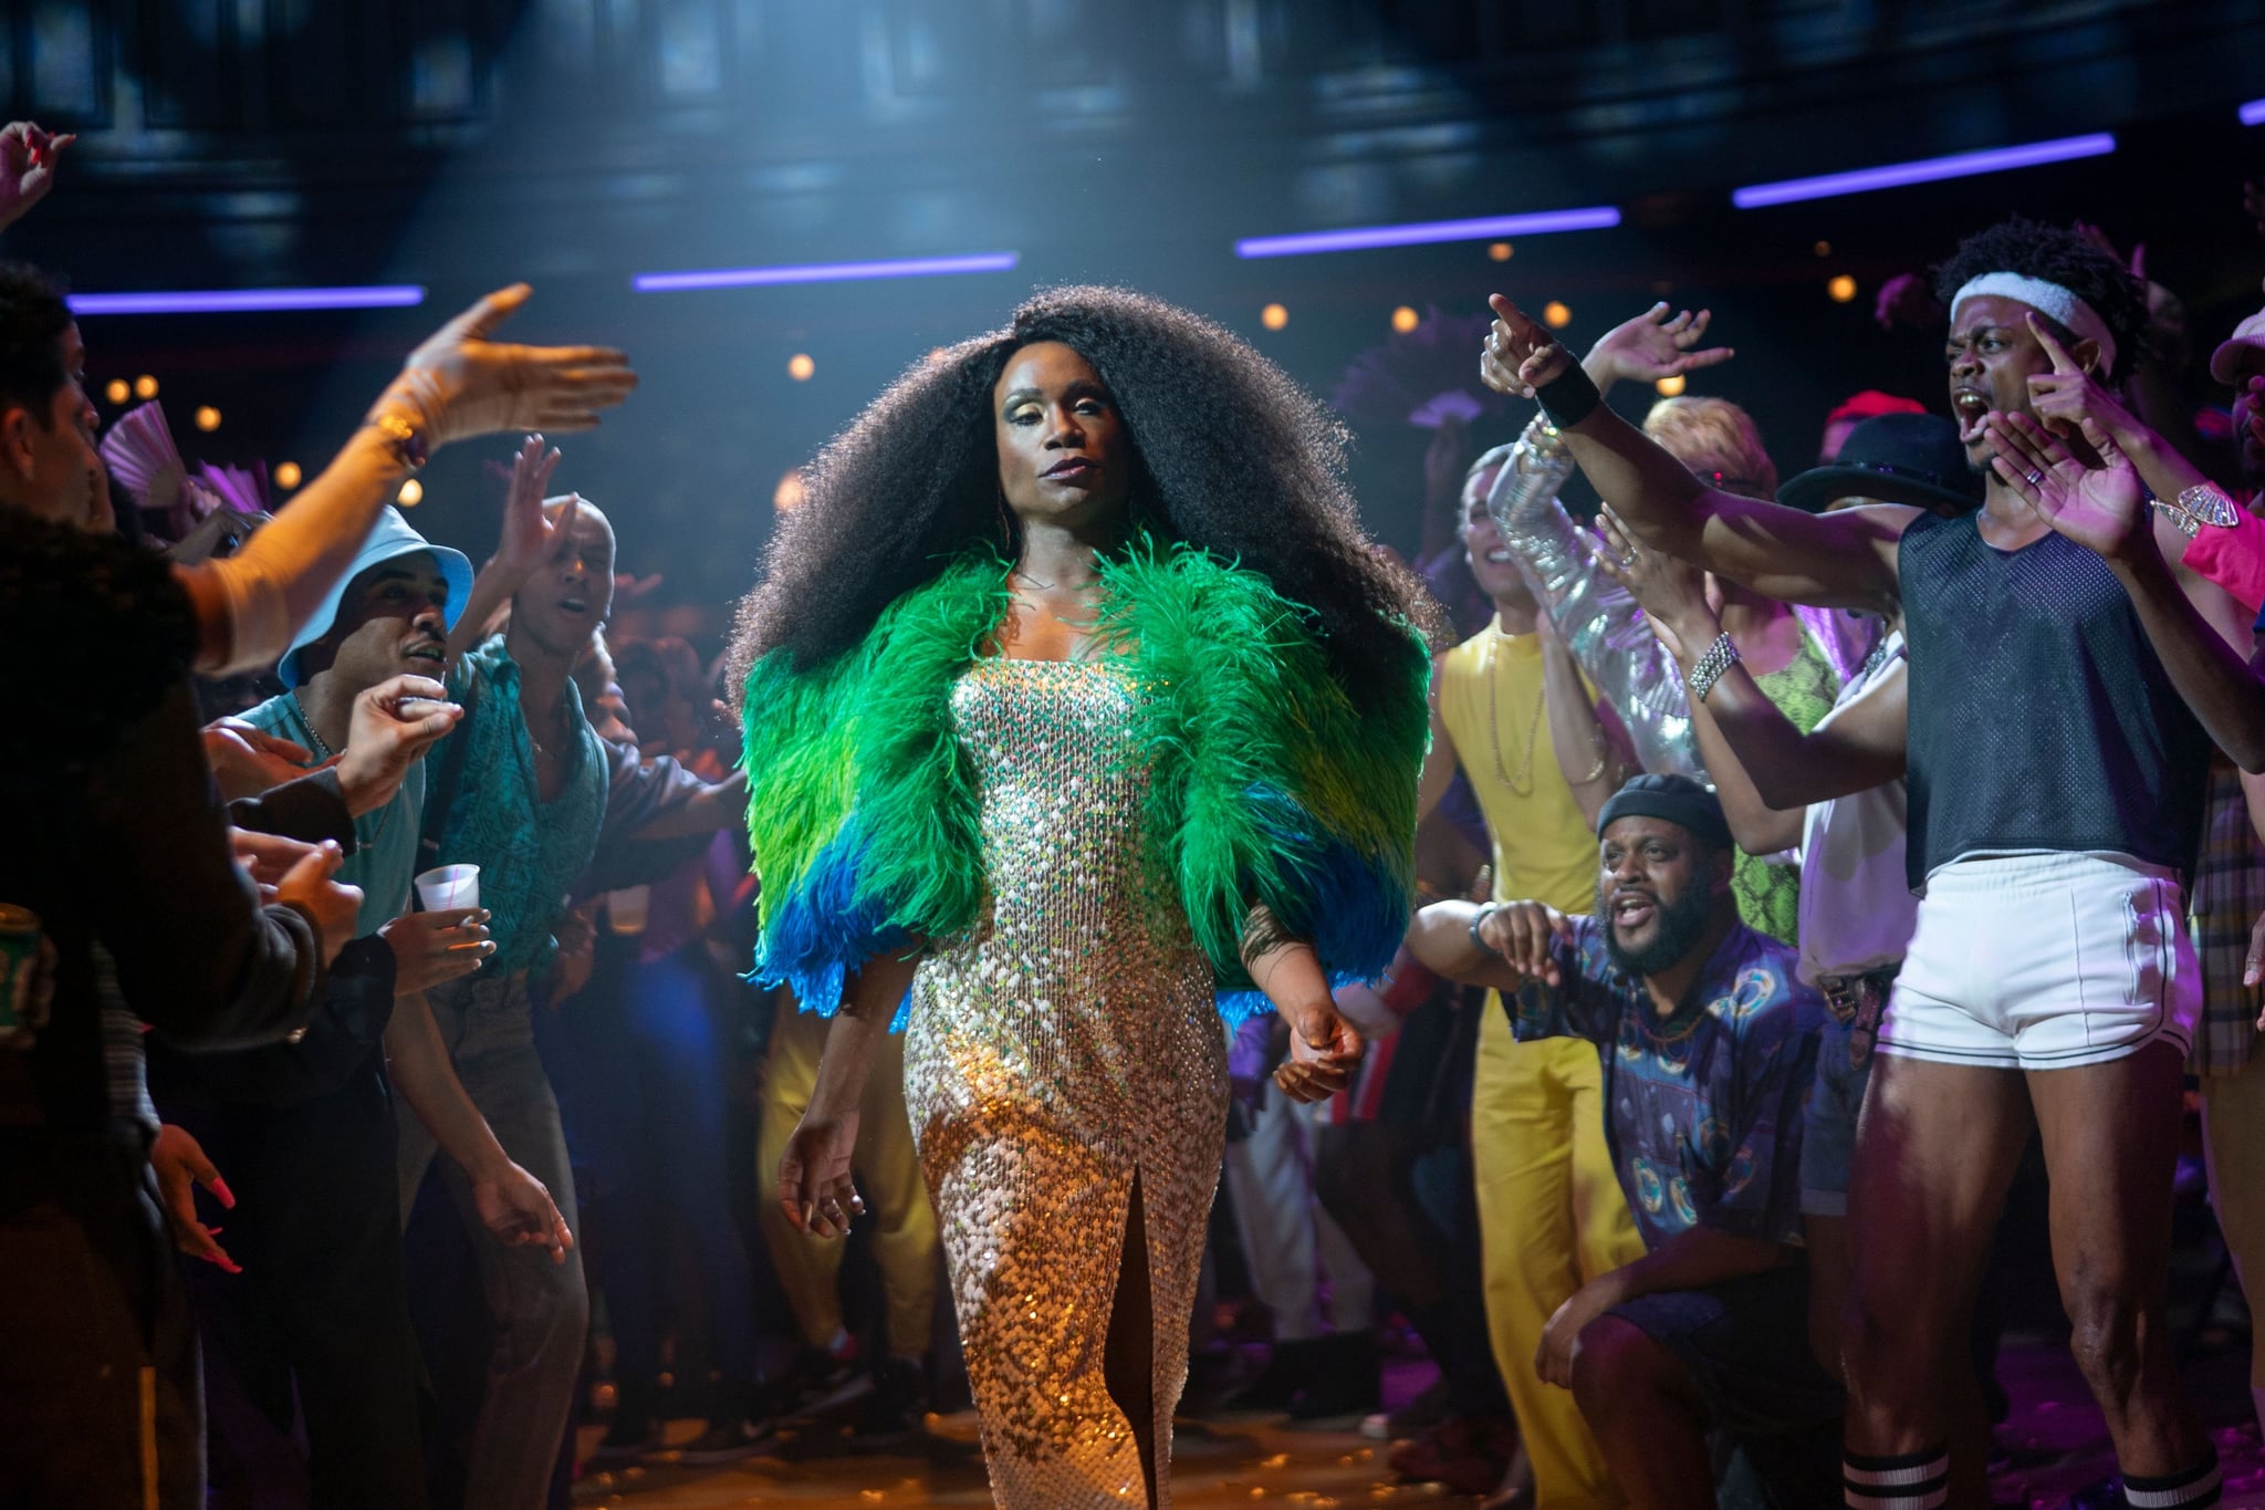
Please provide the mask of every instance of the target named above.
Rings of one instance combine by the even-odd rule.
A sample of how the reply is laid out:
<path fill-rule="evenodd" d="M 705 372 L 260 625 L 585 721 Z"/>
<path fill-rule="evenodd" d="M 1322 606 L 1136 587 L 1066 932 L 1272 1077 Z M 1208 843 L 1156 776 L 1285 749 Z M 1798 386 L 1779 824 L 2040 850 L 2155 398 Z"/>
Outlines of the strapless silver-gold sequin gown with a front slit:
<path fill-rule="evenodd" d="M 1144 1499 L 1101 1374 L 1135 1177 L 1171 1503 L 1228 1069 L 1210 964 L 1142 865 L 1142 695 L 1114 663 L 1006 659 L 951 693 L 981 779 L 990 915 L 920 964 L 904 1091 L 1008 1510 Z"/>

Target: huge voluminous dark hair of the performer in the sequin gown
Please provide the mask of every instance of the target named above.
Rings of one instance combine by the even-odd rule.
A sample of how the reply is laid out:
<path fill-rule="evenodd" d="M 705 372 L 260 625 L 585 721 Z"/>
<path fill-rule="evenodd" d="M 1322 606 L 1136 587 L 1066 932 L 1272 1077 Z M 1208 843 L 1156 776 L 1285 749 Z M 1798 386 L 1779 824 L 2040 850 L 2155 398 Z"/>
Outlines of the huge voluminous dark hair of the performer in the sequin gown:
<path fill-rule="evenodd" d="M 881 609 L 965 550 L 1012 559 L 992 387 L 1033 342 L 1071 346 L 1108 385 L 1139 455 L 1135 523 L 1311 609 L 1357 709 L 1404 684 L 1409 625 L 1436 638 L 1436 607 L 1361 532 L 1343 482 L 1345 428 L 1198 315 L 1119 288 L 1055 288 L 1006 328 L 911 367 L 818 453 L 741 600 L 734 690 L 766 654 L 784 650 L 806 670 L 849 650 Z"/>

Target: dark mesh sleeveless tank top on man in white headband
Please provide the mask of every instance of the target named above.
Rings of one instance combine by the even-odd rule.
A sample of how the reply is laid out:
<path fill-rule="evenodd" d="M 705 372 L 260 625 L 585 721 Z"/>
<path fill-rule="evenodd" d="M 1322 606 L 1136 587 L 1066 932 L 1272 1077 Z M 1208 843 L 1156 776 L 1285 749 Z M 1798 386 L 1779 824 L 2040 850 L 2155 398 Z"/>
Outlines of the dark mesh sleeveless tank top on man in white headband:
<path fill-rule="evenodd" d="M 2190 869 L 2211 738 L 2106 561 L 2059 534 L 1993 550 L 1980 514 L 1930 514 L 1905 530 L 1896 570 L 1912 887 L 1986 849 L 2111 849 Z"/>

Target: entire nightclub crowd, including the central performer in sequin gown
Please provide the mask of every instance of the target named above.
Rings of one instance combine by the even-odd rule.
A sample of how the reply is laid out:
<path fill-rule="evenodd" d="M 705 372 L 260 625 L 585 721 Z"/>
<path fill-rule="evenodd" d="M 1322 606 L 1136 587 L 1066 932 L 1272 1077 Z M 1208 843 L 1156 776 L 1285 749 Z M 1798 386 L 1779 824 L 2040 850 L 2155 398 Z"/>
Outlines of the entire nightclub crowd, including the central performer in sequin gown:
<path fill-rule="evenodd" d="M 0 224 L 68 147 L 0 134 Z M 824 448 L 713 659 L 609 641 L 639 523 L 546 437 L 636 378 L 528 288 L 267 512 L 0 265 L 0 1508 L 535 1510 L 969 1404 L 1015 1510 L 1237 1413 L 1488 1505 L 1991 1505 L 2025 1155 L 2082 1503 L 2220 1503 L 2165 1290 L 2188 1087 L 2265 1272 L 2265 310 L 1943 254 L 1882 312 L 1946 392 L 1787 478 L 1601 403 L 1735 392 L 1706 312 L 1497 294 L 1531 423 L 1438 428 L 1411 561 L 1271 362 L 1051 290 Z M 476 568 L 394 500 L 482 437 Z"/>

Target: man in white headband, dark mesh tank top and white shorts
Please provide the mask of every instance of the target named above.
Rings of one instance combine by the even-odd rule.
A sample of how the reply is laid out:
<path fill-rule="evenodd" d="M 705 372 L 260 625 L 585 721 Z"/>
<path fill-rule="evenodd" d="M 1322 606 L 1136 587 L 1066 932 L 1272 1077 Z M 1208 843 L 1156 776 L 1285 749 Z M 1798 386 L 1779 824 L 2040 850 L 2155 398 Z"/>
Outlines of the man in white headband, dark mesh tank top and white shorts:
<path fill-rule="evenodd" d="M 1848 1191 L 1848 1503 L 1948 1503 L 1939 1381 L 1964 1349 L 2034 1116 L 2072 1349 L 2125 1494 L 2215 1505 L 2217 1462 L 2163 1320 L 2199 1010 L 2181 878 L 2211 740 L 2118 573 L 2048 527 L 2020 478 L 1989 471 L 1991 417 L 2032 414 L 2029 378 L 2052 374 L 2038 331 L 2113 385 L 2138 353 L 2143 290 L 2084 238 L 2020 220 L 1968 238 L 1939 288 L 1950 407 L 1989 480 L 1982 509 L 1959 518 L 1894 505 L 1812 516 L 1710 489 L 1599 405 L 1563 346 L 1499 294 L 1481 376 L 1540 398 L 1644 543 L 1771 598 L 1900 611 L 1907 627 L 1909 878 L 1923 901 Z M 2186 537 L 2170 521 L 2159 537 L 2177 561 Z M 2197 623 L 2247 647 L 2233 600 L 2172 573 Z M 1717 641 L 1692 697 L 1735 654 Z"/>

